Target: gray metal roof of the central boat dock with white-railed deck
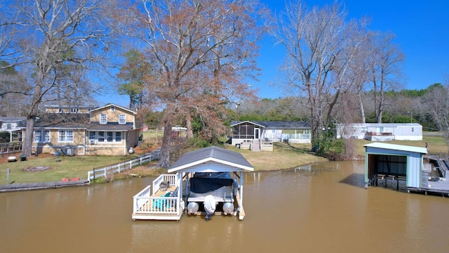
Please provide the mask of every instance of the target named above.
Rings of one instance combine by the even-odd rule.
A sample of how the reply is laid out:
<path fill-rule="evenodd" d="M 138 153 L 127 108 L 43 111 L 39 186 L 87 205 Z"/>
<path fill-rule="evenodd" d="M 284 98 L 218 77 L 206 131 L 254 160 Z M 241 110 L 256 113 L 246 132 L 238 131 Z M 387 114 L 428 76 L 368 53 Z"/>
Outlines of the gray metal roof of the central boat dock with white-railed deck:
<path fill-rule="evenodd" d="M 168 168 L 168 173 L 179 171 L 181 169 L 188 169 L 189 167 L 203 164 L 204 162 L 227 164 L 228 166 L 235 167 L 236 171 L 254 170 L 253 165 L 251 165 L 240 153 L 225 148 L 219 148 L 217 146 L 210 146 L 208 148 L 185 153 L 179 160 L 170 166 L 170 168 Z"/>

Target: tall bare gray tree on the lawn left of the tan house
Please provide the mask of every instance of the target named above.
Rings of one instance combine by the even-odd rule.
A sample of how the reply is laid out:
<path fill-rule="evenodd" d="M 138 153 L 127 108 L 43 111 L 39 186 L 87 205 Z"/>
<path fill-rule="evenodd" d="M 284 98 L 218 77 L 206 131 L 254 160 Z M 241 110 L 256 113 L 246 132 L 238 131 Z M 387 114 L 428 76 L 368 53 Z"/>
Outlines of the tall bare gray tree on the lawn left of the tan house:
<path fill-rule="evenodd" d="M 39 105 L 46 98 L 54 99 L 61 80 L 67 78 L 64 65 L 92 66 L 107 44 L 103 39 L 109 33 L 102 23 L 100 0 L 27 0 L 16 1 L 10 13 L 27 27 L 20 31 L 20 50 L 24 54 L 21 66 L 29 74 L 33 89 L 29 92 L 26 136 L 22 154 L 31 155 L 34 122 Z M 67 86 L 69 83 L 66 82 Z"/>

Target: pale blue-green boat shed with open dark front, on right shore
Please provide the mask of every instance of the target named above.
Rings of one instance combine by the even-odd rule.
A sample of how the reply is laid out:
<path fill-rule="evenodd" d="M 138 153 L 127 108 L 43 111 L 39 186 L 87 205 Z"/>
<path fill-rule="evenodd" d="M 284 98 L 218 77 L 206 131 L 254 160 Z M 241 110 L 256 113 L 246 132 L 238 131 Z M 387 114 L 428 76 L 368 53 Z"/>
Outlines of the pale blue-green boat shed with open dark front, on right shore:
<path fill-rule="evenodd" d="M 405 180 L 407 188 L 422 187 L 423 158 L 427 148 L 377 142 L 364 147 L 366 188 L 379 178 Z"/>

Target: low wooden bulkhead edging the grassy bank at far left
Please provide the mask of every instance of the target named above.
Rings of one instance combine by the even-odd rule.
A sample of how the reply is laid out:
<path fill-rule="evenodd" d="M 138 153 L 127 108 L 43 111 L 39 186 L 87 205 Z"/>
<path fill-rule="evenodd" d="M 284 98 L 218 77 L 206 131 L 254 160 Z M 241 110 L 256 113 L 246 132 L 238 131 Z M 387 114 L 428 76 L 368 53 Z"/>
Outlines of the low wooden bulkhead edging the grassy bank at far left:
<path fill-rule="evenodd" d="M 49 188 L 62 188 L 67 186 L 88 186 L 90 183 L 87 180 L 79 181 L 55 181 L 55 182 L 41 182 L 41 183 L 13 183 L 8 185 L 0 185 L 0 192 L 12 192 L 18 190 L 40 190 Z"/>

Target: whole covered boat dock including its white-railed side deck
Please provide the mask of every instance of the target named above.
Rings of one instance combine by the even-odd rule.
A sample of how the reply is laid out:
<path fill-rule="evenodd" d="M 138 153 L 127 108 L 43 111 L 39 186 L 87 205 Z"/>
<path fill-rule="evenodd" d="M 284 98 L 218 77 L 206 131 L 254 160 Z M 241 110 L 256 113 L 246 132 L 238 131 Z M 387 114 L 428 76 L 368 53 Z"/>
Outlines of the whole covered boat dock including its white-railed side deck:
<path fill-rule="evenodd" d="M 253 166 L 241 155 L 211 146 L 182 155 L 133 199 L 133 219 L 179 220 L 192 215 L 234 215 L 242 220 L 243 173 Z M 166 186 L 166 187 L 162 187 Z M 208 208 L 210 207 L 210 208 Z M 209 211 L 212 209 L 212 211 Z"/>

